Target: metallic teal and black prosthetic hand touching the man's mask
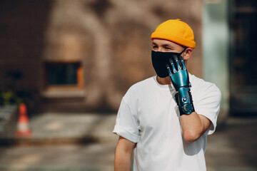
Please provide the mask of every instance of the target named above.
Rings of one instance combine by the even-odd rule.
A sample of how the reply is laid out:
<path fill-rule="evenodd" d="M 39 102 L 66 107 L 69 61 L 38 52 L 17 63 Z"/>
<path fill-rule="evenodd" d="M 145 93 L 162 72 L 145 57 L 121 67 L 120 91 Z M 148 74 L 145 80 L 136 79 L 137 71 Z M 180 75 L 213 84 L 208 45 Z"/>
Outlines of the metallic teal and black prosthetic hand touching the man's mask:
<path fill-rule="evenodd" d="M 179 58 L 179 59 L 178 59 Z M 171 82 L 177 93 L 176 103 L 178 104 L 180 115 L 189 115 L 194 112 L 193 100 L 190 92 L 191 83 L 189 82 L 188 72 L 182 56 L 173 56 L 166 64 Z"/>

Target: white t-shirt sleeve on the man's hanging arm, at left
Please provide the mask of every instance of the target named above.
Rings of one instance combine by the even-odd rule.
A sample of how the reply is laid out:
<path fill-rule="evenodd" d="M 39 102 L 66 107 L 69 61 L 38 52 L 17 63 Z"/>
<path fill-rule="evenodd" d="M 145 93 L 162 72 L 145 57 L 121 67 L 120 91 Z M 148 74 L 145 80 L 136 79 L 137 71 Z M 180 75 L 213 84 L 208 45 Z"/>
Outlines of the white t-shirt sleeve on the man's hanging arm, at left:
<path fill-rule="evenodd" d="M 124 98 L 121 100 L 113 133 L 135 143 L 140 138 L 136 111 L 131 108 L 131 105 Z"/>

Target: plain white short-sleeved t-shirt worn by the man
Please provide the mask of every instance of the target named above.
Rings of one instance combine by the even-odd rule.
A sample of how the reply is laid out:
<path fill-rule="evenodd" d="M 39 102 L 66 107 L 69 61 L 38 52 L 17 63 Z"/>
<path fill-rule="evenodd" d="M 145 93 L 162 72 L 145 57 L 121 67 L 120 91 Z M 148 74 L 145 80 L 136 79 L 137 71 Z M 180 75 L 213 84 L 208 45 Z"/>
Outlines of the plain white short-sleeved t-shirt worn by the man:
<path fill-rule="evenodd" d="M 133 171 L 206 170 L 206 137 L 214 132 L 221 100 L 213 84 L 189 74 L 196 113 L 211 120 L 211 127 L 195 142 L 183 140 L 178 105 L 172 85 L 156 76 L 129 88 L 116 118 L 114 133 L 136 142 Z"/>

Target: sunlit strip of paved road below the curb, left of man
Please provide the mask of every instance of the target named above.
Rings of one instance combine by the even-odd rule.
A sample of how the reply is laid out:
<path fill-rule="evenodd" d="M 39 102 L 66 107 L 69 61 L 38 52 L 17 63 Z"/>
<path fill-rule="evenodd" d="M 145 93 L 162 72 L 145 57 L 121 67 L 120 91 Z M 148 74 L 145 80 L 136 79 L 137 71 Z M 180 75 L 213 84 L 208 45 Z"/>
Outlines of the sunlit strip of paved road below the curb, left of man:
<path fill-rule="evenodd" d="M 88 145 L 32 145 L 1 148 L 0 170 L 106 170 L 114 163 L 113 143 Z"/>

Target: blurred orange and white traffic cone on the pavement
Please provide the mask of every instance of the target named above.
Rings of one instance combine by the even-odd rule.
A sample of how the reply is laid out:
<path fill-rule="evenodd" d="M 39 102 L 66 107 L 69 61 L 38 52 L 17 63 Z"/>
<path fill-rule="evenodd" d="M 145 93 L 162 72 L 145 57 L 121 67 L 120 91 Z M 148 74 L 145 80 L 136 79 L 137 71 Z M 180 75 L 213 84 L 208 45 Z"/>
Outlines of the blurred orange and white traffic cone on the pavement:
<path fill-rule="evenodd" d="M 27 109 L 24 103 L 19 105 L 19 120 L 15 136 L 17 138 L 29 138 L 31 130 L 29 129 L 29 118 L 27 116 Z"/>

